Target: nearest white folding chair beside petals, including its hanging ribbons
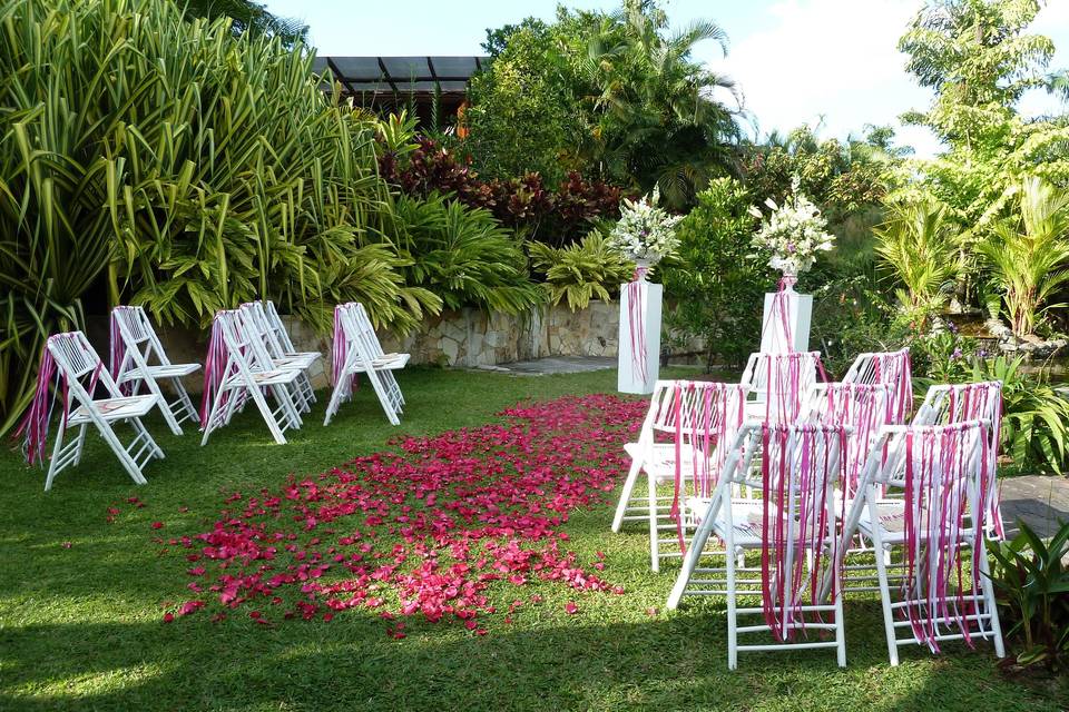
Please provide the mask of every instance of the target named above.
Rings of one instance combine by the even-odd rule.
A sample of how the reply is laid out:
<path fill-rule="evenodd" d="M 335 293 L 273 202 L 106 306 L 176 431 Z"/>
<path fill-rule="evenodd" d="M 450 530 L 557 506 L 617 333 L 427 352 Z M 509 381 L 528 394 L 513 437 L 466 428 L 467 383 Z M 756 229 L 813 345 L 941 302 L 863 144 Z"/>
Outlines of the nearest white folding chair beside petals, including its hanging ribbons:
<path fill-rule="evenodd" d="M 690 507 L 700 516 L 667 606 L 676 609 L 684 595 L 724 595 L 732 670 L 739 651 L 783 649 L 835 649 L 840 666 L 846 664 L 842 592 L 832 591 L 831 603 L 821 595 L 825 578 L 838 581 L 832 491 L 842 476 L 847 432 L 844 426 L 747 423 L 713 496 Z M 761 466 L 753 472 L 755 456 Z M 737 492 L 744 488 L 757 488 L 762 496 L 743 498 Z M 706 551 L 710 536 L 724 542 L 723 552 Z M 759 553 L 758 565 L 745 565 L 747 552 Z M 700 565 L 709 555 L 723 557 L 724 565 Z M 759 596 L 762 603 L 739 606 L 741 595 Z M 744 625 L 744 616 L 763 621 Z M 833 631 L 834 640 L 823 640 L 825 631 Z M 772 640 L 739 643 L 754 634 Z"/>

